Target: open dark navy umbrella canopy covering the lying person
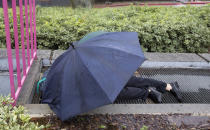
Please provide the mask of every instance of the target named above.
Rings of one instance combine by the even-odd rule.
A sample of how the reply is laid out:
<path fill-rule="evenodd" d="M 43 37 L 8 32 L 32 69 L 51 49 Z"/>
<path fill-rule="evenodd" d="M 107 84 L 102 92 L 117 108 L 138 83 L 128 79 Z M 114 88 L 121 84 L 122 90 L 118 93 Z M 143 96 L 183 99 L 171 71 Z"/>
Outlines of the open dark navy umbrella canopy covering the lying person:
<path fill-rule="evenodd" d="M 137 33 L 91 33 L 55 60 L 42 103 L 63 121 L 113 103 L 144 60 Z"/>

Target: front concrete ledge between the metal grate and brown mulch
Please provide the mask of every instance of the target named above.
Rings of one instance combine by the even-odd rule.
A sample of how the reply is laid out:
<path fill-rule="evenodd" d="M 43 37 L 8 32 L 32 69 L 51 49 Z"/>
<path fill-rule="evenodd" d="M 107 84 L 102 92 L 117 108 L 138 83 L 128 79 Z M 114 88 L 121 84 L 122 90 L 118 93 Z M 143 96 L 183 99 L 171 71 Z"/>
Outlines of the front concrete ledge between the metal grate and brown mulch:
<path fill-rule="evenodd" d="M 25 104 L 31 117 L 52 115 L 47 104 Z M 92 114 L 192 114 L 210 116 L 210 104 L 110 104 L 96 108 Z"/>

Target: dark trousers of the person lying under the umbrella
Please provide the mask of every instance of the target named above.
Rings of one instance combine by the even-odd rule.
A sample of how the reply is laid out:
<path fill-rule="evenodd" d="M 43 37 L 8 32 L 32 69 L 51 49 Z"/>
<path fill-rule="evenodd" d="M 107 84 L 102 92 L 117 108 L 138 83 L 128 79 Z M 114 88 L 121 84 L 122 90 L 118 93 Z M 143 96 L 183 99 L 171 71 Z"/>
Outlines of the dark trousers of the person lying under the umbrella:
<path fill-rule="evenodd" d="M 146 100 L 149 95 L 149 87 L 155 87 L 159 92 L 165 93 L 166 86 L 167 84 L 162 81 L 132 76 L 117 98 Z"/>

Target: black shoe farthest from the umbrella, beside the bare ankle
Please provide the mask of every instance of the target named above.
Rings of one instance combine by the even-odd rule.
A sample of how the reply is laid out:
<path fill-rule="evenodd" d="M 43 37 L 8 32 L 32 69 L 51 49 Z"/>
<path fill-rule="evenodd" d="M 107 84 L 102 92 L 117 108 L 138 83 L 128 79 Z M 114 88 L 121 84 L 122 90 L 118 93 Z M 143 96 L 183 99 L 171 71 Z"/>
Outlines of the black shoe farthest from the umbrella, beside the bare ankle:
<path fill-rule="evenodd" d="M 177 82 L 170 83 L 172 89 L 170 92 L 176 97 L 176 99 L 181 103 L 182 102 L 182 94 L 179 88 L 179 84 Z"/>

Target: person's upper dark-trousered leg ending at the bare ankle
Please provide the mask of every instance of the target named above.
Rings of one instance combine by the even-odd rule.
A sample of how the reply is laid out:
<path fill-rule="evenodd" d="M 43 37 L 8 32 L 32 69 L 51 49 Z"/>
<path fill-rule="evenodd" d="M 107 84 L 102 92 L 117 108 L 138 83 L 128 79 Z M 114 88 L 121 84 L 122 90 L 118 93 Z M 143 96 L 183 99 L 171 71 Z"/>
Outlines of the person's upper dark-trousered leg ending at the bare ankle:
<path fill-rule="evenodd" d="M 132 76 L 127 82 L 126 86 L 134 86 L 137 88 L 155 87 L 158 91 L 162 93 L 165 93 L 166 90 L 169 88 L 169 85 L 165 82 L 158 81 L 155 79 L 136 77 L 136 76 Z"/>

